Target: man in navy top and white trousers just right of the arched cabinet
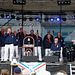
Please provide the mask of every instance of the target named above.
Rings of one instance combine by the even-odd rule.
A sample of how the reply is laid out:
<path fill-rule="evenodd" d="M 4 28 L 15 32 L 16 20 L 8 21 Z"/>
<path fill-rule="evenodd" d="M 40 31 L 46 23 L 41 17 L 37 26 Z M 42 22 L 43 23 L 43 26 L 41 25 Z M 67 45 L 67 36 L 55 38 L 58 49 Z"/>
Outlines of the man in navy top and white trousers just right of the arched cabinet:
<path fill-rule="evenodd" d="M 42 48 L 42 38 L 39 36 L 39 33 L 36 33 L 35 39 L 35 56 L 39 56 L 39 61 L 42 61 L 41 48 Z"/>

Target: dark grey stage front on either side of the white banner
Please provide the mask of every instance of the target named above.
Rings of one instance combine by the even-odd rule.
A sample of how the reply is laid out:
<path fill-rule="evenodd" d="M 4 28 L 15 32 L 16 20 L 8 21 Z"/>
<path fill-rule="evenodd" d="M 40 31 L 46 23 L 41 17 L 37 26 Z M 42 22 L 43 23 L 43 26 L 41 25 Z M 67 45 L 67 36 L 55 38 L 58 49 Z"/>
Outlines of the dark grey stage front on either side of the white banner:
<path fill-rule="evenodd" d="M 33 62 L 34 63 L 34 62 Z M 75 64 L 74 62 L 67 62 L 67 63 L 50 63 L 46 62 L 46 70 L 51 72 L 51 75 L 54 75 L 56 72 L 60 70 L 64 70 L 70 75 L 70 64 Z M 8 69 L 11 75 L 11 65 L 10 62 L 0 62 L 0 73 L 2 69 Z"/>

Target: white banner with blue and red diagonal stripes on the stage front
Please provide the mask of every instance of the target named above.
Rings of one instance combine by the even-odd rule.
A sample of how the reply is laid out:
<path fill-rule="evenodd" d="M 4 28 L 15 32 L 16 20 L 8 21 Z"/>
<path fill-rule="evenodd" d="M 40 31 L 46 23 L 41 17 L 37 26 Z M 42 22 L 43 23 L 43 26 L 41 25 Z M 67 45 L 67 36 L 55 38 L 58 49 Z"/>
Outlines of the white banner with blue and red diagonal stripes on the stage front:
<path fill-rule="evenodd" d="M 46 63 L 38 63 L 38 62 L 31 62 L 31 63 L 26 63 L 26 62 L 19 62 L 19 67 L 24 70 L 28 69 L 30 74 L 36 73 L 39 71 L 46 71 Z"/>

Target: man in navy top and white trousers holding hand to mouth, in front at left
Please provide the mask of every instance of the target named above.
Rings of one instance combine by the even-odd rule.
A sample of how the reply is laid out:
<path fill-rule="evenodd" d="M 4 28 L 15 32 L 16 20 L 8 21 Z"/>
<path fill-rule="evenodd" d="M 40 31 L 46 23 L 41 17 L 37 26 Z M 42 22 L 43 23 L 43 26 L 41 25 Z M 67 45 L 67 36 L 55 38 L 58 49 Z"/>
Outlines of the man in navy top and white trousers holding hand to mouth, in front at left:
<path fill-rule="evenodd" d="M 12 29 L 8 28 L 7 33 L 4 34 L 5 38 L 5 55 L 4 55 L 4 61 L 8 60 L 8 50 L 10 49 L 10 56 L 9 60 L 12 61 L 12 58 L 14 56 L 14 44 L 15 44 L 15 35 L 12 33 Z"/>

